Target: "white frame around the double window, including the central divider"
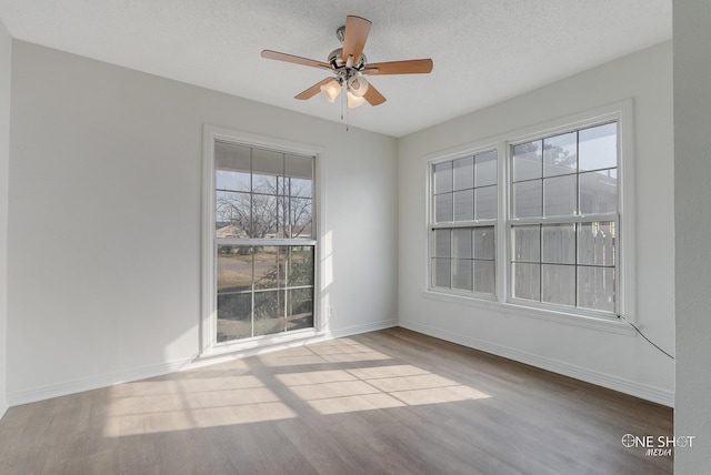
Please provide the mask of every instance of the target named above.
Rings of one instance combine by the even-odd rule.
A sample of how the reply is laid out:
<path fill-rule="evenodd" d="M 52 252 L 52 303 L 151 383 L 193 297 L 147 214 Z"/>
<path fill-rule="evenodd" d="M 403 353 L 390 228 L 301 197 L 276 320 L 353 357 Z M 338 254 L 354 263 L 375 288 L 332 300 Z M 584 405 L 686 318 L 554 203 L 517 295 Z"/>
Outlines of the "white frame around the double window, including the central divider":
<path fill-rule="evenodd" d="M 617 122 L 618 123 L 618 225 L 619 239 L 615 242 L 617 275 L 615 275 L 615 304 L 617 314 L 630 322 L 637 322 L 635 317 L 635 257 L 634 257 L 634 124 L 633 102 L 624 100 L 603 105 L 593 110 L 571 114 L 561 119 L 533 124 L 531 127 L 504 132 L 481 142 L 472 142 L 459 148 L 448 149 L 424 155 L 427 166 L 427 251 L 425 275 L 423 279 L 423 296 L 447 303 L 455 303 L 468 307 L 490 310 L 517 316 L 529 316 L 564 324 L 573 324 L 613 333 L 631 334 L 633 330 L 622 319 L 614 315 L 601 314 L 583 309 L 564 309 L 539 302 L 512 301 L 511 294 L 511 145 L 552 137 L 572 130 Z M 499 209 L 495 224 L 497 233 L 497 295 L 495 299 L 482 297 L 478 294 L 462 294 L 447 292 L 431 285 L 431 229 L 433 223 L 432 208 L 432 166 L 447 160 L 457 159 L 465 153 L 481 152 L 488 149 L 497 150 L 498 156 L 498 186 Z"/>

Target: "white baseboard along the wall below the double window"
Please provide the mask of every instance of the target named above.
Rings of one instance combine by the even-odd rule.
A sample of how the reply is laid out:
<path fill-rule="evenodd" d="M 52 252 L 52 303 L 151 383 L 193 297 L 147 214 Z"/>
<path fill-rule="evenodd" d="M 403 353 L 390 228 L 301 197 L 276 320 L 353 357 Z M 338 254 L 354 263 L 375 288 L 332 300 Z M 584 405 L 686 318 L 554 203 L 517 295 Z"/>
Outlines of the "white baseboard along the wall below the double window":
<path fill-rule="evenodd" d="M 674 393 L 672 391 L 640 384 L 622 377 L 588 370 L 558 360 L 552 360 L 520 350 L 497 345 L 493 343 L 460 335 L 458 333 L 449 332 L 447 330 L 437 329 L 434 326 L 423 325 L 418 322 L 410 322 L 407 320 L 400 321 L 400 326 L 402 326 L 403 329 L 412 330 L 414 332 L 423 333 L 425 335 L 445 340 L 448 342 L 458 343 L 460 345 L 469 346 L 474 350 L 491 353 L 497 356 L 513 360 L 519 363 L 529 364 L 531 366 L 540 367 L 542 370 L 562 374 L 564 376 L 570 376 L 575 380 L 595 384 L 598 386 L 607 387 L 609 390 L 618 391 L 620 393 L 640 397 L 642 400 L 651 401 L 653 403 L 662 404 L 668 407 L 674 406 Z"/>

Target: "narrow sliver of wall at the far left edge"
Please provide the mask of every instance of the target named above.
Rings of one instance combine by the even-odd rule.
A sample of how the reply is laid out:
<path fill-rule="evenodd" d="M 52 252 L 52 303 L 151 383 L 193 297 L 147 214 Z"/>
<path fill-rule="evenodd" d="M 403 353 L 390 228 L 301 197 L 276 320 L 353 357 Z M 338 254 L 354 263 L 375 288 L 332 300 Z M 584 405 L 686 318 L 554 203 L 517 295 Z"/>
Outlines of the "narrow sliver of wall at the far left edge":
<path fill-rule="evenodd" d="M 0 20 L 0 417 L 8 408 L 8 169 L 10 163 L 10 70 L 12 38 Z"/>

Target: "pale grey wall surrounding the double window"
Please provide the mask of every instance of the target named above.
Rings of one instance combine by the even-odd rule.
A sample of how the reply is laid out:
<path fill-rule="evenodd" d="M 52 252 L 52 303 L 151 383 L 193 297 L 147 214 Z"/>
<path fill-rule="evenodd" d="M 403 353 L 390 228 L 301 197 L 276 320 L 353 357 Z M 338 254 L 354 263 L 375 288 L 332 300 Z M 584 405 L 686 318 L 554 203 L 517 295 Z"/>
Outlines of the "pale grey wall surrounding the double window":
<path fill-rule="evenodd" d="M 634 104 L 637 322 L 674 352 L 672 47 L 664 43 L 401 139 L 400 325 L 652 401 L 673 403 L 674 363 L 617 333 L 431 299 L 423 155 L 628 99 Z M 502 71 L 502 74 L 510 71 Z"/>

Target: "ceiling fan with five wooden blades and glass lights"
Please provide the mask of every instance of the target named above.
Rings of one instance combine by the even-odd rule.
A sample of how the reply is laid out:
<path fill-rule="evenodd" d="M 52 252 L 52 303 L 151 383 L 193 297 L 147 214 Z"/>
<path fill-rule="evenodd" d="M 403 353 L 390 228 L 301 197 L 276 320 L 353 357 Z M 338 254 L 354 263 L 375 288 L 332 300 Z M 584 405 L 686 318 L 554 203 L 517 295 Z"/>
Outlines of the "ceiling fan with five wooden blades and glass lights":
<path fill-rule="evenodd" d="M 357 108 L 364 101 L 371 105 L 379 105 L 385 102 L 385 98 L 372 84 L 369 84 L 367 75 L 428 73 L 432 71 L 432 60 L 417 59 L 368 63 L 363 54 L 363 47 L 371 24 L 364 18 L 347 17 L 346 24 L 336 31 L 336 37 L 343 43 L 343 47 L 331 51 L 328 62 L 271 50 L 262 51 L 262 58 L 320 68 L 334 74 L 334 77 L 327 78 L 297 94 L 296 99 L 311 99 L 321 92 L 329 102 L 333 102 L 341 90 L 346 89 L 349 108 Z"/>

